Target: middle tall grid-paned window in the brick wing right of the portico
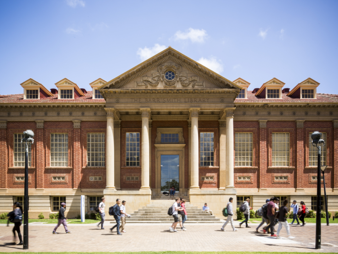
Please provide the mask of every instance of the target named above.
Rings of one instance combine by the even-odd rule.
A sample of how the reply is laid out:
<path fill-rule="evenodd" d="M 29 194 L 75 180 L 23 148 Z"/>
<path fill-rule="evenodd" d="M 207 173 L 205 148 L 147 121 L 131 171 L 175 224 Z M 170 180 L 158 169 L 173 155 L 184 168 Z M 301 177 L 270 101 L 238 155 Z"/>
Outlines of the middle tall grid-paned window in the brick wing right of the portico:
<path fill-rule="evenodd" d="M 290 133 L 272 133 L 272 166 L 290 165 Z"/>

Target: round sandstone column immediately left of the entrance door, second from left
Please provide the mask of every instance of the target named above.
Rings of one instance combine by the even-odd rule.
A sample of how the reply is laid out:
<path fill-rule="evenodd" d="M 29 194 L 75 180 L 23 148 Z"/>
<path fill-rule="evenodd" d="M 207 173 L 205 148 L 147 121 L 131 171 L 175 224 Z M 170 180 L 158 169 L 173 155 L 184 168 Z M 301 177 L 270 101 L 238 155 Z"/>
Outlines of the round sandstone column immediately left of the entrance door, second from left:
<path fill-rule="evenodd" d="M 149 119 L 150 108 L 140 108 L 142 113 L 141 190 L 149 187 Z"/>

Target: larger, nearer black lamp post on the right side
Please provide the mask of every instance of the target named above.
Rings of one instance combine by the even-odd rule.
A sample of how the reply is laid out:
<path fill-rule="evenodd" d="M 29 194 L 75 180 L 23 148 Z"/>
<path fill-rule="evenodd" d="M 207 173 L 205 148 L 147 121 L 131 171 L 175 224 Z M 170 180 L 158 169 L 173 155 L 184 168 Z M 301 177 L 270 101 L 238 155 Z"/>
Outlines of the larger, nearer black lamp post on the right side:
<path fill-rule="evenodd" d="M 311 134 L 312 145 L 318 148 L 317 154 L 317 213 L 316 213 L 316 249 L 321 249 L 321 207 L 320 207 L 320 148 L 325 145 L 324 140 L 321 138 L 321 133 L 319 131 L 314 131 Z"/>

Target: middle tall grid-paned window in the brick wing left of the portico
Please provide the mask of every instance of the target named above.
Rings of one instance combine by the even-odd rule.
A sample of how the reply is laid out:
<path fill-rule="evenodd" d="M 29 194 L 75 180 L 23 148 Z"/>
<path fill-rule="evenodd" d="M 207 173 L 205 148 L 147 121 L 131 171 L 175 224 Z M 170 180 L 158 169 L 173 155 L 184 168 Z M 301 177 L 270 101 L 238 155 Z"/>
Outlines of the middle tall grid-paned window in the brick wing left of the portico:
<path fill-rule="evenodd" d="M 68 133 L 50 134 L 50 166 L 68 166 Z"/>

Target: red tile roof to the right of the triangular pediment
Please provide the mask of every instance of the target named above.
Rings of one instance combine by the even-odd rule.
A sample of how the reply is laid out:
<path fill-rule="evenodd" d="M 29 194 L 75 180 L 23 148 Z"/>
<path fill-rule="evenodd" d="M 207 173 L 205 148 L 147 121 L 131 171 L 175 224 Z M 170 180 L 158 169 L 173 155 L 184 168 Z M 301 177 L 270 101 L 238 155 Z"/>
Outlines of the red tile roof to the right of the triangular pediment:
<path fill-rule="evenodd" d="M 302 102 L 302 103 L 321 103 L 321 102 L 338 102 L 338 94 L 327 94 L 327 93 L 317 93 L 317 99 L 300 99 L 300 98 L 292 98 L 287 96 L 286 93 L 282 93 L 282 99 L 265 99 L 259 96 L 255 96 L 255 93 L 252 91 L 248 91 L 247 99 L 236 99 L 235 103 L 269 103 L 269 102 L 286 102 L 286 103 L 294 103 L 294 102 Z"/>

